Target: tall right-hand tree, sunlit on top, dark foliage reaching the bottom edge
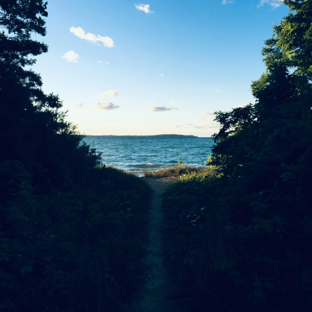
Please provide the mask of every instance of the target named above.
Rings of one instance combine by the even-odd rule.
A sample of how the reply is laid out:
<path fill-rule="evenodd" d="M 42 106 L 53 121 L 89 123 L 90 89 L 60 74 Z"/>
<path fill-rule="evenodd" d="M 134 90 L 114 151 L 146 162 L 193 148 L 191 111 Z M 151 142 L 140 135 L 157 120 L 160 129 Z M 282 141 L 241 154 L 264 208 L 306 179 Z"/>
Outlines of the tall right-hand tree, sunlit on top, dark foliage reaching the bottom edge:
<path fill-rule="evenodd" d="M 244 226 L 237 267 L 253 311 L 312 306 L 312 0 L 284 3 L 291 12 L 265 41 L 255 104 L 215 118 L 211 163 L 231 222 Z"/>

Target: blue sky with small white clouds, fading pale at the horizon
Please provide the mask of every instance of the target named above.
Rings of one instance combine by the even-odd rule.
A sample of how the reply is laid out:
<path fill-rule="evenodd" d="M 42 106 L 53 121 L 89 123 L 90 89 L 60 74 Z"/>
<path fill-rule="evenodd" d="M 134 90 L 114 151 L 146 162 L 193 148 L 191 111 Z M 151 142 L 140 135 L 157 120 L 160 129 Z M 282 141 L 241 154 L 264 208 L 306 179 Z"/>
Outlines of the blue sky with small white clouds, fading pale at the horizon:
<path fill-rule="evenodd" d="M 214 112 L 254 103 L 281 0 L 53 0 L 33 69 L 85 135 L 218 132 Z"/>

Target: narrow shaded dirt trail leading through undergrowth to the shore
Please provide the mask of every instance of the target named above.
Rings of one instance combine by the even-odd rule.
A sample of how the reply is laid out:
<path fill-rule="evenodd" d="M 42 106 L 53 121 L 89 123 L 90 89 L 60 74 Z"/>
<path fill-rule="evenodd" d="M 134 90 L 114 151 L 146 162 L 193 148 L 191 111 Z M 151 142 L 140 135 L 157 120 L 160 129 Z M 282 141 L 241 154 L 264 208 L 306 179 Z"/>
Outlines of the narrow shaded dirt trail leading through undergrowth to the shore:
<path fill-rule="evenodd" d="M 172 291 L 169 275 L 164 265 L 162 230 L 164 227 L 161 195 L 174 182 L 172 178 L 143 177 L 154 191 L 149 215 L 148 241 L 143 265 L 146 267 L 146 282 L 136 300 L 134 312 L 177 312 L 178 302 L 168 299 Z"/>

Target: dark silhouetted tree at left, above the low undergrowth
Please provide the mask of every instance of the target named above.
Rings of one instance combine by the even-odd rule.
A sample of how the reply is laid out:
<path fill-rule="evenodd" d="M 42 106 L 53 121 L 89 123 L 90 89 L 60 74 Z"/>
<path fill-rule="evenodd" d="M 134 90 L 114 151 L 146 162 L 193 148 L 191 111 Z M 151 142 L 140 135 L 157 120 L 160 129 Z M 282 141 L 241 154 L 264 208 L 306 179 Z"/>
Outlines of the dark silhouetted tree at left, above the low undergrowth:
<path fill-rule="evenodd" d="M 26 69 L 36 62 L 32 57 L 48 51 L 31 37 L 45 36 L 46 7 L 42 0 L 0 0 L 0 139 L 5 147 L 0 159 L 26 164 L 41 187 L 98 162 L 76 126 L 65 121 L 59 97 L 44 94 L 40 76 Z"/>

